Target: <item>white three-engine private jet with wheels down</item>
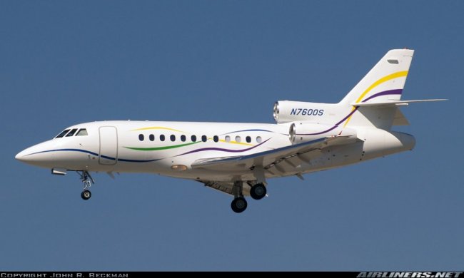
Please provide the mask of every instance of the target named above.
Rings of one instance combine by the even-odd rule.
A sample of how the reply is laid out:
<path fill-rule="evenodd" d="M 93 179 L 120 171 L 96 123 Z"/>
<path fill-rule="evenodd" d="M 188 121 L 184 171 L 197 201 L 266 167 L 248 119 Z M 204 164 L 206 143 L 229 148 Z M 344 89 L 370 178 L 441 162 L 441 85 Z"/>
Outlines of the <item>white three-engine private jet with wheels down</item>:
<path fill-rule="evenodd" d="M 233 196 L 231 208 L 246 210 L 246 196 L 267 195 L 268 179 L 360 163 L 405 150 L 415 138 L 391 130 L 408 125 L 400 107 L 413 50 L 383 56 L 338 103 L 278 101 L 276 123 L 193 123 L 111 120 L 79 123 L 16 155 L 23 163 L 75 171 L 89 200 L 91 172 L 156 173 L 196 180 Z"/>

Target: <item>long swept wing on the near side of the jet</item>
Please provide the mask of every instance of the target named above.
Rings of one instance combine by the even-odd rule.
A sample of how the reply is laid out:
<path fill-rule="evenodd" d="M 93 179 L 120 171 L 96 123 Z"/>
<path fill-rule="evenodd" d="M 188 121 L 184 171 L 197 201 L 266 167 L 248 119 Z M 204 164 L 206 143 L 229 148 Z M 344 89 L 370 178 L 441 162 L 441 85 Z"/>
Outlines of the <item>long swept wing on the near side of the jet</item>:
<path fill-rule="evenodd" d="M 225 169 L 230 171 L 246 169 L 252 170 L 256 167 L 262 167 L 264 170 L 268 170 L 283 161 L 289 161 L 291 158 L 311 152 L 311 150 L 326 148 L 332 145 L 345 145 L 354 143 L 356 140 L 358 140 L 358 138 L 353 135 L 319 138 L 317 140 L 289 145 L 274 150 L 266 150 L 261 153 L 253 153 L 251 155 L 200 159 L 196 160 L 191 167 L 217 171 Z"/>

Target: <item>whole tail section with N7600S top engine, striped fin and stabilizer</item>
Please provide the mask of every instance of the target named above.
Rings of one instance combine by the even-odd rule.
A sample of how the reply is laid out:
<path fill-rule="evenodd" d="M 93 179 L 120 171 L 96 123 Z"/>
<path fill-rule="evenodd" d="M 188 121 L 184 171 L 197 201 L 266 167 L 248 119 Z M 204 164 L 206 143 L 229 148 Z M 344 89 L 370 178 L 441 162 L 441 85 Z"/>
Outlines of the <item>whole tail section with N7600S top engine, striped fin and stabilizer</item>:
<path fill-rule="evenodd" d="M 331 130 L 368 127 L 390 130 L 392 125 L 407 125 L 399 106 L 425 101 L 400 101 L 414 51 L 393 49 L 359 81 L 339 103 L 278 101 L 274 105 L 277 123 L 316 123 L 321 130 L 302 133 L 321 135 Z M 328 127 L 328 128 L 325 128 Z"/>

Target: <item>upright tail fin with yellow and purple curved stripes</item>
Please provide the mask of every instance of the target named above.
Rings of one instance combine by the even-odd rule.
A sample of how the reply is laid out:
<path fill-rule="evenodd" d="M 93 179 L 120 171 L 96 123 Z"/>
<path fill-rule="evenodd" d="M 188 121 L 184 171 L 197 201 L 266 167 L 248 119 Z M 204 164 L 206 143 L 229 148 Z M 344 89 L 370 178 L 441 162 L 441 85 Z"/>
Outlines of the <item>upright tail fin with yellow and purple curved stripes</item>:
<path fill-rule="evenodd" d="M 386 103 L 399 101 L 408 76 L 409 66 L 414 51 L 410 49 L 393 49 L 364 76 L 361 81 L 338 103 L 351 106 L 351 113 L 343 127 L 373 126 L 390 129 L 397 113 L 396 106 L 379 107 L 356 105 L 357 103 Z M 354 113 L 358 110 L 359 113 Z"/>

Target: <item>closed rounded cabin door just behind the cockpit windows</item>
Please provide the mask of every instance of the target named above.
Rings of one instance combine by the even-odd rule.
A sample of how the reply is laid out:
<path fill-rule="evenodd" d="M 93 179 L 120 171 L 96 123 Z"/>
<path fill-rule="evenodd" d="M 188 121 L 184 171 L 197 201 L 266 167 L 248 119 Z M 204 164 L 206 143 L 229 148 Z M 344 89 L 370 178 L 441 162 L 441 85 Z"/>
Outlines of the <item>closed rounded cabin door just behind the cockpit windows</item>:
<path fill-rule="evenodd" d="M 115 165 L 118 162 L 118 131 L 114 126 L 102 126 L 99 131 L 99 163 L 102 165 Z"/>

